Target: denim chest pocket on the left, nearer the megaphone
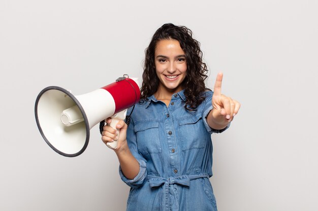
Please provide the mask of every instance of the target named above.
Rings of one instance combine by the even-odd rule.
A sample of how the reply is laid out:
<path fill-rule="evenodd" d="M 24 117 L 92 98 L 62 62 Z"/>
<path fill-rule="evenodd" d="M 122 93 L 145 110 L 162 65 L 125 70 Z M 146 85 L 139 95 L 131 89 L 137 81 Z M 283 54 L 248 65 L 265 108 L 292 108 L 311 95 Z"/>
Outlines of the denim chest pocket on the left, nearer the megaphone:
<path fill-rule="evenodd" d="M 140 121 L 135 124 L 138 151 L 142 155 L 161 153 L 158 121 Z"/>

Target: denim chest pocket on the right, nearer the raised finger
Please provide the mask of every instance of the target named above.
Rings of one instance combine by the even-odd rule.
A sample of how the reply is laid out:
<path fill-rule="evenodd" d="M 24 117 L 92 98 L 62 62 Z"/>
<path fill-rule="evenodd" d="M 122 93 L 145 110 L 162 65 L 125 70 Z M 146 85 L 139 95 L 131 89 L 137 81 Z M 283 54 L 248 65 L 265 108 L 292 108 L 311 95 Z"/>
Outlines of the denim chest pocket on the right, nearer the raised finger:
<path fill-rule="evenodd" d="M 201 115 L 178 120 L 182 151 L 205 148 L 207 131 Z"/>

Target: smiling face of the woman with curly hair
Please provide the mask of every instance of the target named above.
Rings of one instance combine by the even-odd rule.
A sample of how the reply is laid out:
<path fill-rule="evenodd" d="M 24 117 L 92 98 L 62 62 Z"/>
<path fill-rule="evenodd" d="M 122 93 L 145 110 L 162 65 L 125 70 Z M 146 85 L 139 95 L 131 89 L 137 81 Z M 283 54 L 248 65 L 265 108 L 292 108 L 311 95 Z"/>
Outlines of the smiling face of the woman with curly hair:
<path fill-rule="evenodd" d="M 158 41 L 154 50 L 154 64 L 159 78 L 158 90 L 176 93 L 182 90 L 181 82 L 186 75 L 185 54 L 175 39 Z"/>

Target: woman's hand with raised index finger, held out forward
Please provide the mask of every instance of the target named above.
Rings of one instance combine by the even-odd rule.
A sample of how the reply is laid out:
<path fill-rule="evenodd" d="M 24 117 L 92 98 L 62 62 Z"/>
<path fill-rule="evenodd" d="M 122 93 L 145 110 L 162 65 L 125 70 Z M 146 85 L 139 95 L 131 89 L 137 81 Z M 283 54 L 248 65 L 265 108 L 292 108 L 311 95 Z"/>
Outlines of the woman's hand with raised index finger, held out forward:
<path fill-rule="evenodd" d="M 214 93 L 212 96 L 213 109 L 210 112 L 211 120 L 213 124 L 219 125 L 213 125 L 211 128 L 214 129 L 222 128 L 232 121 L 241 106 L 236 100 L 221 94 L 222 78 L 223 73 L 219 72 L 216 76 Z"/>

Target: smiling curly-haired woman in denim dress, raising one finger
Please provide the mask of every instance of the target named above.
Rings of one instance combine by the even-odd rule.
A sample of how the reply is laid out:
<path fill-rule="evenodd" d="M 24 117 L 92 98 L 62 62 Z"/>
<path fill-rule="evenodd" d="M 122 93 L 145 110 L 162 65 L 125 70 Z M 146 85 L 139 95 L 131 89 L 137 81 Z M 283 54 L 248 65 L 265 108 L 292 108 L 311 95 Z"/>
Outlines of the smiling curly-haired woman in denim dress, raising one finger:
<path fill-rule="evenodd" d="M 204 80 L 200 44 L 184 26 L 164 24 L 146 49 L 141 101 L 129 127 L 120 121 L 116 152 L 121 179 L 131 187 L 127 210 L 217 210 L 212 176 L 212 133 L 221 133 L 240 104 L 214 93 Z M 106 119 L 107 123 L 111 119 Z M 103 142 L 117 140 L 104 126 Z"/>

